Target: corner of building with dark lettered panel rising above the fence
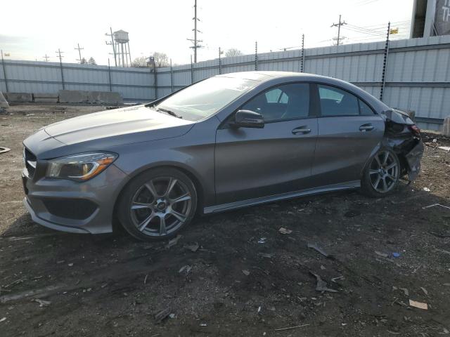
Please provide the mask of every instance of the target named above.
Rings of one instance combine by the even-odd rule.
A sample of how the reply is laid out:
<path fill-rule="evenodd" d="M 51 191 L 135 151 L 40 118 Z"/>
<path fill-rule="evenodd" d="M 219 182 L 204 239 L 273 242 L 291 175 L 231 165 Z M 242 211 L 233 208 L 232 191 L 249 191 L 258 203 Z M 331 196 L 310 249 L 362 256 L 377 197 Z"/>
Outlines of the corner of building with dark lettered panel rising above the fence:
<path fill-rule="evenodd" d="M 450 34 L 450 0 L 414 0 L 411 38 Z"/>

